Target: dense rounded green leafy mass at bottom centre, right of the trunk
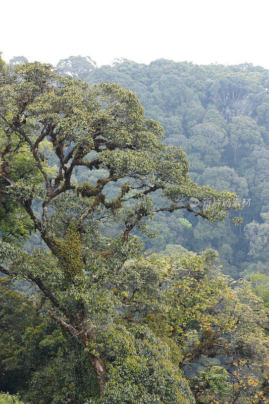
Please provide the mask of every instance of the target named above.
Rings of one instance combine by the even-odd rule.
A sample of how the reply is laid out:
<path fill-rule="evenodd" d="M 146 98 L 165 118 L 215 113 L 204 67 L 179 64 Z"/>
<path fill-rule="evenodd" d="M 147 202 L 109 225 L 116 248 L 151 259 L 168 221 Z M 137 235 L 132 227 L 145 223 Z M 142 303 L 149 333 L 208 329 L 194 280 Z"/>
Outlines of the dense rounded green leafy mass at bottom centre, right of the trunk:
<path fill-rule="evenodd" d="M 102 398 L 89 402 L 194 403 L 186 380 L 169 360 L 169 346 L 146 327 L 117 327 L 102 341 L 110 363 L 109 381 Z"/>

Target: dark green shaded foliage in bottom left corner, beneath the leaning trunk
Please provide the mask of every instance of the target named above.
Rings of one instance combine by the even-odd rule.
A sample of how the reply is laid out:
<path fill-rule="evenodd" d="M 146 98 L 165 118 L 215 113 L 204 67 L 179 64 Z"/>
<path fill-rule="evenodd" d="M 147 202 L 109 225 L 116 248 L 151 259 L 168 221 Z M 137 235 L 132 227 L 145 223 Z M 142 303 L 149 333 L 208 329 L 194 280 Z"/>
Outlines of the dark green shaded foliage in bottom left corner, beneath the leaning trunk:
<path fill-rule="evenodd" d="M 0 285 L 1 388 L 31 404 L 76 404 L 97 393 L 85 352 L 44 319 L 44 300 L 12 290 L 8 278 Z"/>

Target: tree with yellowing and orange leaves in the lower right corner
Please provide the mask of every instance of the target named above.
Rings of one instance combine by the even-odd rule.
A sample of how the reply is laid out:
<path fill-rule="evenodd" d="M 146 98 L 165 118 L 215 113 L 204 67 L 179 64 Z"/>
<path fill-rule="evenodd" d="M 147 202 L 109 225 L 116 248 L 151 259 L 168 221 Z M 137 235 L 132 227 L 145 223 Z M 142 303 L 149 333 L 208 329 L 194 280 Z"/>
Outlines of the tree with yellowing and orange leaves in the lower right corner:
<path fill-rule="evenodd" d="M 176 344 L 175 360 L 199 404 L 268 402 L 268 311 L 253 294 L 266 301 L 268 279 L 233 281 L 220 272 L 217 256 L 209 249 L 148 257 L 163 274 L 166 308 L 151 309 L 143 321 L 171 347 Z"/>

